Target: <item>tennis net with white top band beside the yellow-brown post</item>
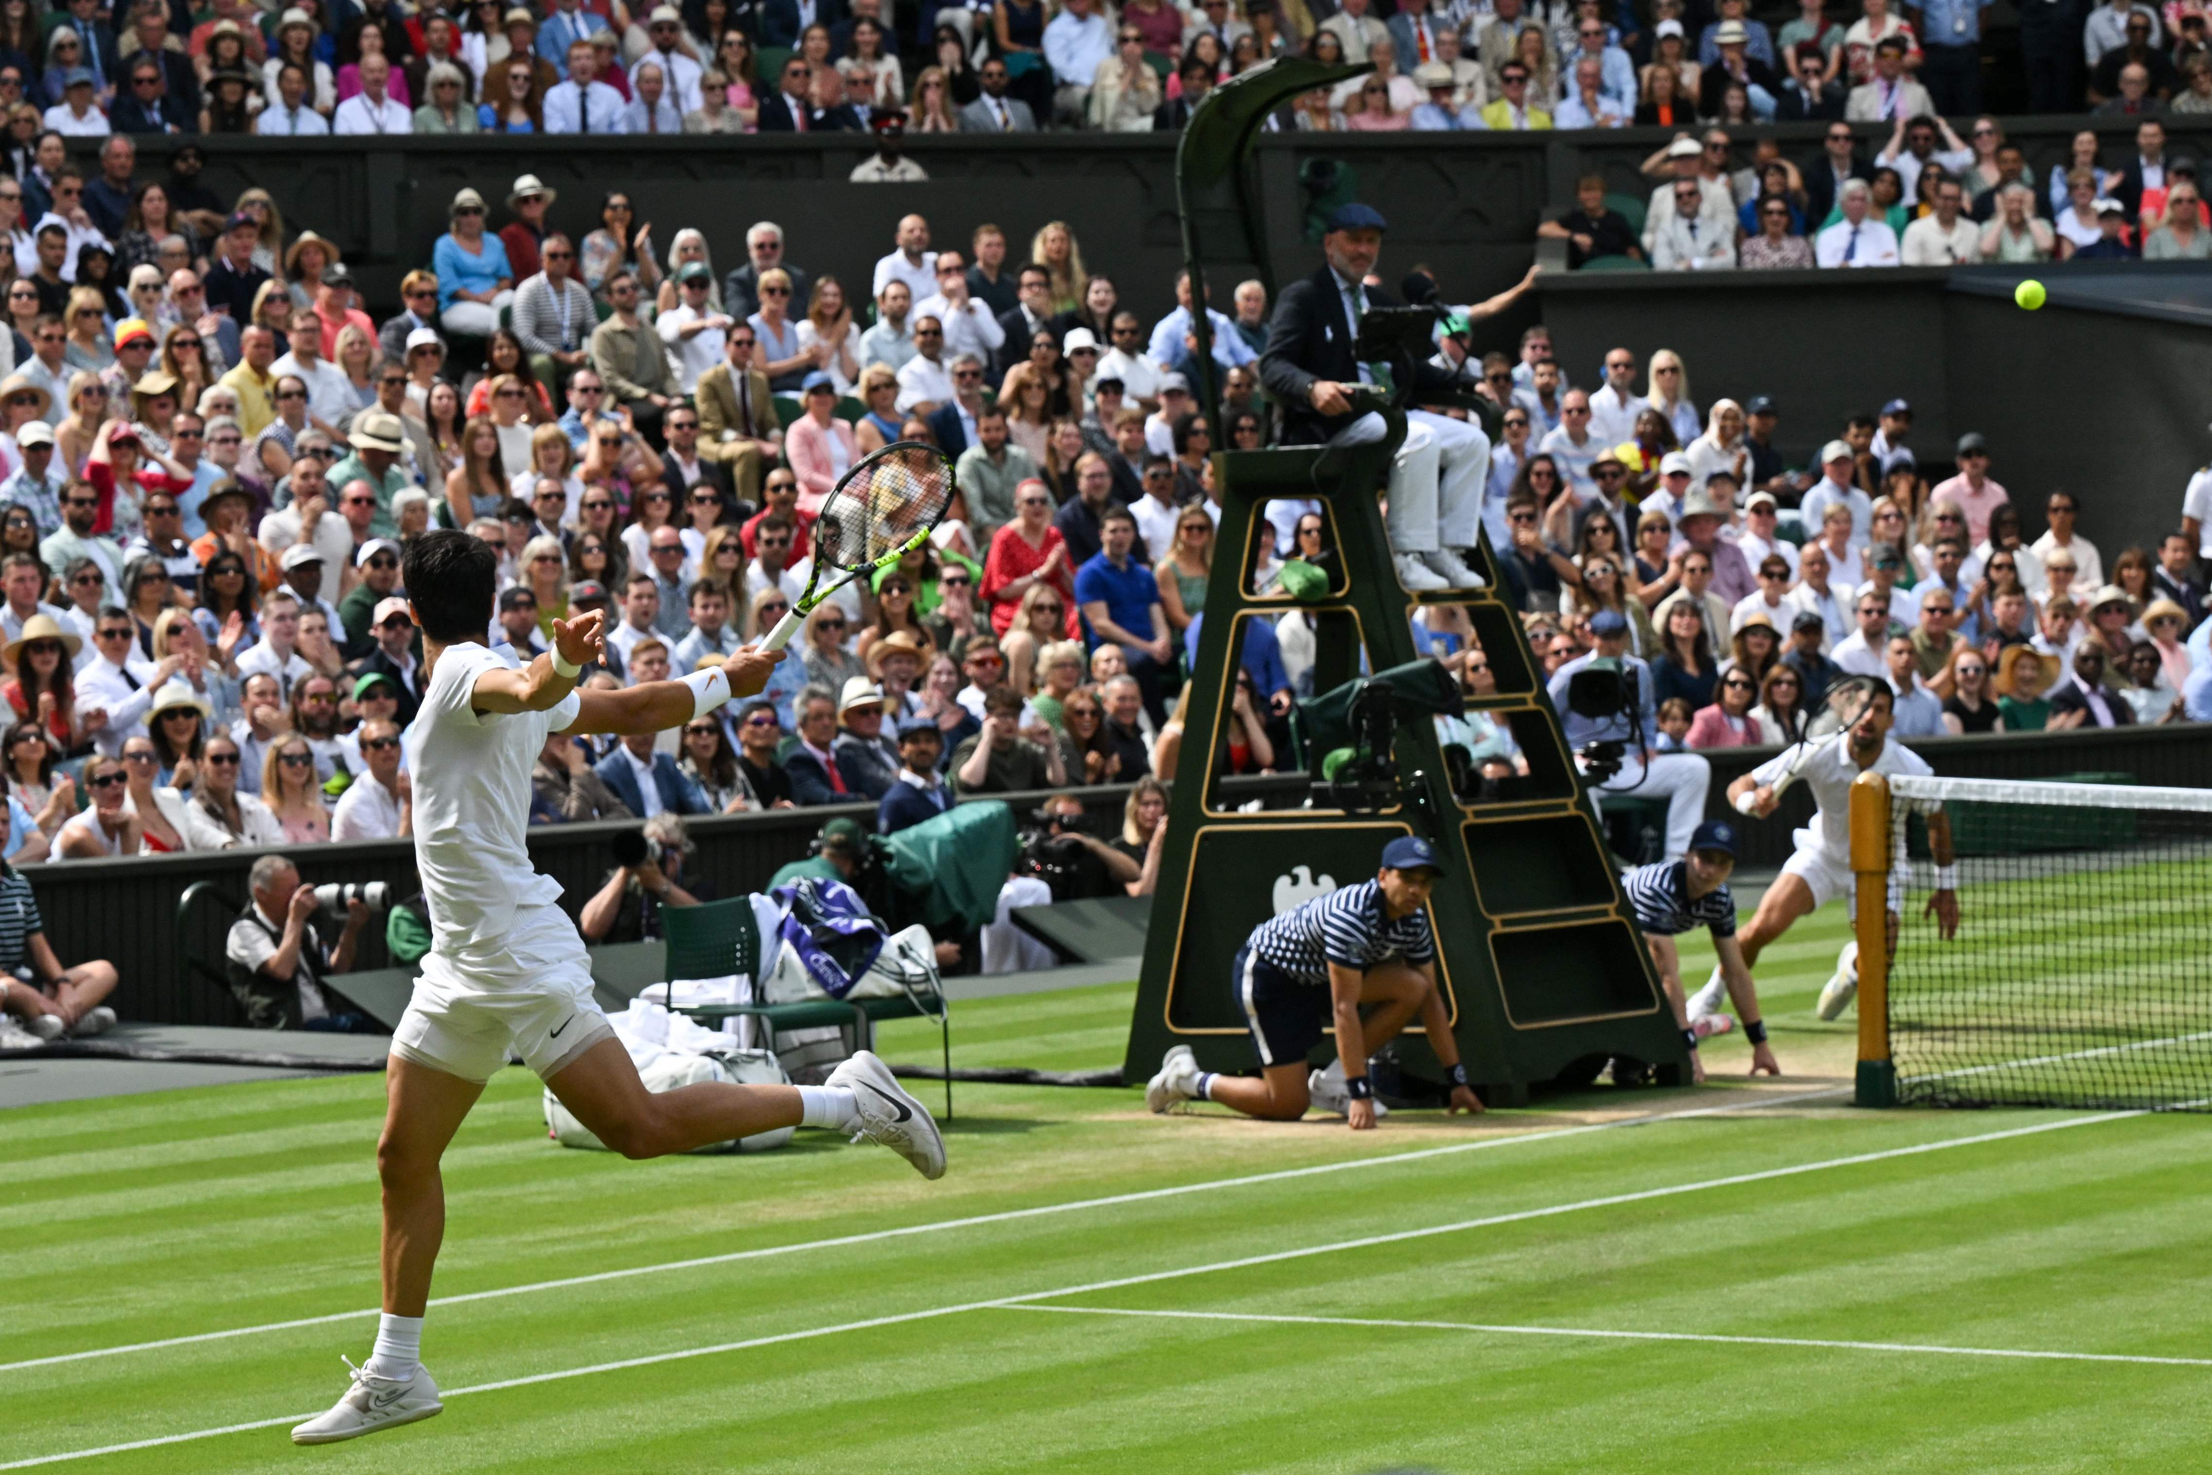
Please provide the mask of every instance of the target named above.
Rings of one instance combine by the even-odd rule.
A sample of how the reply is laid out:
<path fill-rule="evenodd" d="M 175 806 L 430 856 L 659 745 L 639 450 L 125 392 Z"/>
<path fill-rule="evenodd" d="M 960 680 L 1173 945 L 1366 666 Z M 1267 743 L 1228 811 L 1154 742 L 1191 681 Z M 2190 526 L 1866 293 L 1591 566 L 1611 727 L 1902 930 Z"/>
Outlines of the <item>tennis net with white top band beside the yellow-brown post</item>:
<path fill-rule="evenodd" d="M 1889 807 L 1900 1103 L 2212 1108 L 2212 789 L 1893 776 Z"/>

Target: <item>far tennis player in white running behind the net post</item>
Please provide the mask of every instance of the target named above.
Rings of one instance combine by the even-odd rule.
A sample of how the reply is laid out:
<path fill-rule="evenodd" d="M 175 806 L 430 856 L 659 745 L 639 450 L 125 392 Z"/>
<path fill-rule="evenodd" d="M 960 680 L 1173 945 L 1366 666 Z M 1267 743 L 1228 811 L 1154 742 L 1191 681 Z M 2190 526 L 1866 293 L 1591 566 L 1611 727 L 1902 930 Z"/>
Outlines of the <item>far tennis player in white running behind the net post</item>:
<path fill-rule="evenodd" d="M 1838 896 L 1851 916 L 1858 916 L 1858 887 L 1851 876 L 1851 781 L 1860 774 L 1911 774 L 1924 778 L 1933 774 L 1920 754 L 1889 741 L 1896 692 L 1887 683 L 1867 697 L 1867 710 L 1847 730 L 1829 739 L 1827 752 L 1814 756 L 1801 778 L 1812 787 L 1818 812 L 1812 825 L 1796 831 L 1796 851 L 1783 862 L 1783 874 L 1774 878 L 1767 893 L 1759 898 L 1759 911 L 1750 924 L 1736 933 L 1743 949 L 1743 966 L 1759 962 L 1761 949 L 1790 931 L 1790 924 L 1825 907 Z M 1743 794 L 1754 798 L 1752 814 L 1765 818 L 1781 803 L 1774 783 L 1787 772 L 1796 750 L 1767 759 L 1750 774 L 1728 785 L 1734 803 Z M 1951 885 L 1951 818 L 1940 805 L 1927 809 L 1929 851 L 1936 858 L 1936 891 L 1929 896 L 1929 913 L 1936 916 L 1944 938 L 1958 933 L 1958 891 Z M 1898 949 L 1898 907 L 1905 904 L 1905 876 L 1891 867 L 1889 874 L 1889 953 Z M 1728 997 L 1721 971 L 1690 995 L 1690 1022 L 1721 1011 Z M 1858 993 L 1858 949 L 1847 944 L 1836 960 L 1836 975 L 1820 991 L 1818 1013 L 1834 1019 Z"/>

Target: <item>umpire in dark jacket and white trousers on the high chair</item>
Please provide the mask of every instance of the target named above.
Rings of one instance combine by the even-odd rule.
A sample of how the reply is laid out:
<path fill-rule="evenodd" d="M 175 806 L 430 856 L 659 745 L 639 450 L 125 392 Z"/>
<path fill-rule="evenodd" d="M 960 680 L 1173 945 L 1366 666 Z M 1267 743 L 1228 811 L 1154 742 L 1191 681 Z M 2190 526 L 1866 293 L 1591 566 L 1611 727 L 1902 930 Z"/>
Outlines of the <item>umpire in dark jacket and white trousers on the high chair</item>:
<path fill-rule="evenodd" d="M 1325 265 L 1283 290 L 1261 354 L 1261 383 L 1283 407 L 1285 444 L 1369 444 L 1385 436 L 1380 414 L 1358 414 L 1349 391 L 1389 385 L 1389 369 L 1352 356 L 1367 307 L 1398 305 L 1367 287 L 1383 254 L 1383 215 L 1343 206 L 1321 239 Z M 1449 391 L 1455 376 L 1429 360 L 1413 365 L 1416 389 Z M 1389 473 L 1389 542 L 1409 590 L 1482 588 L 1455 553 L 1478 544 L 1491 440 L 1473 420 L 1407 411 L 1407 438 Z"/>

